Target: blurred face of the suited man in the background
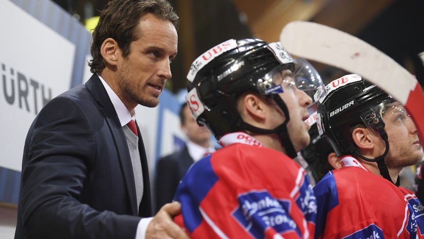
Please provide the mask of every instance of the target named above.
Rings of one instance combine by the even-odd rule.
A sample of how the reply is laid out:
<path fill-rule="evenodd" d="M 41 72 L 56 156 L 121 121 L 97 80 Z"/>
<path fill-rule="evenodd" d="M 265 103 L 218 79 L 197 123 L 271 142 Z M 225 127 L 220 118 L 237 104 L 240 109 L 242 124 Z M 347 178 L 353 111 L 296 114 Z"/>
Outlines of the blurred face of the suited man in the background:
<path fill-rule="evenodd" d="M 205 126 L 199 126 L 191 116 L 190 110 L 187 105 L 184 106 L 184 122 L 182 122 L 181 128 L 186 133 L 188 139 L 192 142 L 208 147 L 211 138 L 209 129 Z"/>

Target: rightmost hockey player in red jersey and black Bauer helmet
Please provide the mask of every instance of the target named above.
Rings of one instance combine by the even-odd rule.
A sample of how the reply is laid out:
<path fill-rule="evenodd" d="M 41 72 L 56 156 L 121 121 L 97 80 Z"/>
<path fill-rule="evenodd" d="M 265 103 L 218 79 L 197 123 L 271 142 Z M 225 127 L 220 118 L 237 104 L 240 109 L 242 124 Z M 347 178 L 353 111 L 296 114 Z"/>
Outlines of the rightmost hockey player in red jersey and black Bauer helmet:
<path fill-rule="evenodd" d="M 342 168 L 314 187 L 315 238 L 421 237 L 423 205 L 397 187 L 402 168 L 422 157 L 405 108 L 351 74 L 326 86 L 317 111 L 320 135 L 341 157 Z"/>

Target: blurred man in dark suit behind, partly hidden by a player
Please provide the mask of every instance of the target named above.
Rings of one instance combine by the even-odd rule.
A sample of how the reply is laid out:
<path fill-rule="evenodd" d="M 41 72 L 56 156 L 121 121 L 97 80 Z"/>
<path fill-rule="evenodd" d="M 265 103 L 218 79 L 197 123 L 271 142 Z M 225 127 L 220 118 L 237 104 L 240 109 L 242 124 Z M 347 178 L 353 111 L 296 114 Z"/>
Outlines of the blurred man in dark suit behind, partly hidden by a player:
<path fill-rule="evenodd" d="M 187 136 L 186 145 L 179 151 L 159 159 L 156 166 L 156 211 L 172 202 L 180 180 L 187 169 L 205 154 L 215 152 L 211 133 L 207 127 L 199 126 L 191 116 L 187 103 L 181 105 L 181 129 Z"/>

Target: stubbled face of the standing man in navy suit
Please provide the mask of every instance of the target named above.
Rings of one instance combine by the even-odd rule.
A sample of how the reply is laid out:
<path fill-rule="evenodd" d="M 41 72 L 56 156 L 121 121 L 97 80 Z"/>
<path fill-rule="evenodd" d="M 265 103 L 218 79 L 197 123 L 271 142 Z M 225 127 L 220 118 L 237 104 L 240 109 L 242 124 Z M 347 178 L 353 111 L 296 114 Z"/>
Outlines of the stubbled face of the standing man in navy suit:
<path fill-rule="evenodd" d="M 170 62 L 177 54 L 178 36 L 170 21 L 152 14 L 141 18 L 138 31 L 139 38 L 131 43 L 128 57 L 119 55 L 117 94 L 127 107 L 136 104 L 155 107 L 167 79 L 172 76 Z"/>

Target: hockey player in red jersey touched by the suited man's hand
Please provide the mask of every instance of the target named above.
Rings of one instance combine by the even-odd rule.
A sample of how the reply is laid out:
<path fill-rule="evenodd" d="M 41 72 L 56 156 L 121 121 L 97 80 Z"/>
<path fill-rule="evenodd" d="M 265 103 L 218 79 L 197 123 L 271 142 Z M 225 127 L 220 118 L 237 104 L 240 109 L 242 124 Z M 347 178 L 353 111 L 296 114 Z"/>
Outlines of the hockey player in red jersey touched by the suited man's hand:
<path fill-rule="evenodd" d="M 323 89 L 315 69 L 280 43 L 228 40 L 187 79 L 193 117 L 223 148 L 187 171 L 175 221 L 192 238 L 313 238 L 315 196 L 292 158 L 310 140 L 305 92 Z"/>

